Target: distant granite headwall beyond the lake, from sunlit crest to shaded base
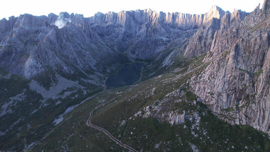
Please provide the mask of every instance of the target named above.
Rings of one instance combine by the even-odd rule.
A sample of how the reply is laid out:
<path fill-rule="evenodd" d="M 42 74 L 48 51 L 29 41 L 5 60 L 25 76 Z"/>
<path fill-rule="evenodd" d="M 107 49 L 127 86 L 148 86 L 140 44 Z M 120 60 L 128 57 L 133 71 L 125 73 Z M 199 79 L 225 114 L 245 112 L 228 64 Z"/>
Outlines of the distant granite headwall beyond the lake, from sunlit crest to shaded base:
<path fill-rule="evenodd" d="M 211 26 L 224 15 L 213 6 L 205 14 L 164 13 L 151 9 L 96 13 L 89 20 L 93 31 L 110 48 L 124 51 L 130 58 L 151 58 L 175 39 L 186 40 L 196 30 Z"/>

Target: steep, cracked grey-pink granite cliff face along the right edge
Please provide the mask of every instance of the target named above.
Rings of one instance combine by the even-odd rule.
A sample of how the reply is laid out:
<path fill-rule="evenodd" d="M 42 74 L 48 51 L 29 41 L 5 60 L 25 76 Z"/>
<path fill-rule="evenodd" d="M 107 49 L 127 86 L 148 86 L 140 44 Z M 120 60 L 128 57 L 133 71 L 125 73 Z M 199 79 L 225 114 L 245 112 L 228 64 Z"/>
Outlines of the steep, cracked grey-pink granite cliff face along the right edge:
<path fill-rule="evenodd" d="M 209 65 L 189 82 L 219 118 L 270 133 L 269 0 L 250 14 L 235 10 L 220 19 L 204 57 Z M 205 29 L 203 32 L 206 32 Z M 194 35 L 196 37 L 196 34 Z M 194 42 L 200 44 L 201 41 Z M 203 47 L 206 48 L 206 47 Z M 192 55 L 202 54 L 195 49 Z M 189 52 L 184 53 L 184 55 Z"/>

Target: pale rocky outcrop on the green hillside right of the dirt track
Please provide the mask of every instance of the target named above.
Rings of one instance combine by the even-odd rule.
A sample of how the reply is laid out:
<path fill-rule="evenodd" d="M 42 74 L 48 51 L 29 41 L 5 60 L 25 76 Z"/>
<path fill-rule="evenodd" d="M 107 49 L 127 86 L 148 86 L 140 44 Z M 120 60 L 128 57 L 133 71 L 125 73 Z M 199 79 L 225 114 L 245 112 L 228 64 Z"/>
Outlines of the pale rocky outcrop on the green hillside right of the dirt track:
<path fill-rule="evenodd" d="M 168 93 L 162 100 L 156 100 L 153 104 L 144 107 L 134 114 L 144 118 L 154 117 L 159 121 L 167 121 L 170 124 L 181 124 L 185 121 L 200 122 L 200 105 L 197 100 L 186 99 L 184 86 Z"/>

